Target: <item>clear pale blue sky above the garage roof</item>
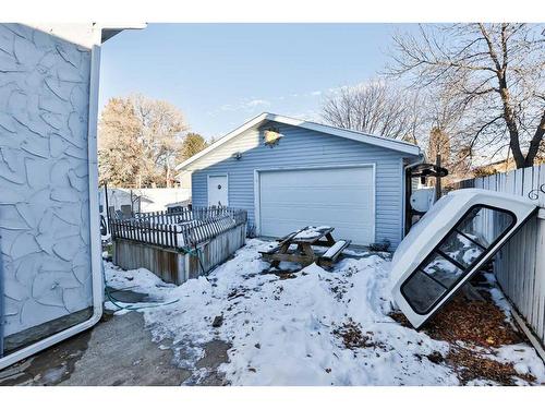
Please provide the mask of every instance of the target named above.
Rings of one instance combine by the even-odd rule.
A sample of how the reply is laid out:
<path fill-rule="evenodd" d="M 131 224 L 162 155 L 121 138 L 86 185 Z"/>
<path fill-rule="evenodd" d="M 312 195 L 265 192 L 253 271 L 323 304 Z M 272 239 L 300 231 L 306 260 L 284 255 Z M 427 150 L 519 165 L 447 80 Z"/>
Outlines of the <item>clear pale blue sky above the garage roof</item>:
<path fill-rule="evenodd" d="M 317 119 L 324 96 L 376 76 L 402 24 L 149 24 L 102 47 L 100 108 L 141 93 L 221 136 L 263 112 Z"/>

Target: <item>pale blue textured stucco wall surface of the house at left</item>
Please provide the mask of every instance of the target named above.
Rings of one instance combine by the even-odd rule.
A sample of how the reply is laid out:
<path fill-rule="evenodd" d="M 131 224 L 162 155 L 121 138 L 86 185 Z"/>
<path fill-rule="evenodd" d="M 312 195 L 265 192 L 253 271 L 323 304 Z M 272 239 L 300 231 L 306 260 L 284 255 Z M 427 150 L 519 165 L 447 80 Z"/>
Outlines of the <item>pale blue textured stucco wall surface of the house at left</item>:
<path fill-rule="evenodd" d="M 4 335 L 92 305 L 90 51 L 0 24 Z"/>

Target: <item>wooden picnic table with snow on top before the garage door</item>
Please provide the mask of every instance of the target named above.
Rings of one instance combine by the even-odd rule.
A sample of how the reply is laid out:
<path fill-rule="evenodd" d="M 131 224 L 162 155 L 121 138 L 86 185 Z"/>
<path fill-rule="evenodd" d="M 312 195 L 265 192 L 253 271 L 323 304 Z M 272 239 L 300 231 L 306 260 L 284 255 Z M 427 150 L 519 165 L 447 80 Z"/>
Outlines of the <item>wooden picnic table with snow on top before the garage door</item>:
<path fill-rule="evenodd" d="M 278 239 L 277 245 L 259 253 L 263 260 L 270 262 L 270 265 L 276 268 L 281 262 L 299 263 L 303 266 L 316 262 L 320 266 L 331 267 L 342 250 L 350 244 L 350 240 L 336 241 L 331 234 L 334 230 L 335 228 L 329 226 L 306 226 Z M 292 245 L 295 245 L 295 249 L 291 249 Z M 316 254 L 313 245 L 328 250 L 323 254 Z"/>

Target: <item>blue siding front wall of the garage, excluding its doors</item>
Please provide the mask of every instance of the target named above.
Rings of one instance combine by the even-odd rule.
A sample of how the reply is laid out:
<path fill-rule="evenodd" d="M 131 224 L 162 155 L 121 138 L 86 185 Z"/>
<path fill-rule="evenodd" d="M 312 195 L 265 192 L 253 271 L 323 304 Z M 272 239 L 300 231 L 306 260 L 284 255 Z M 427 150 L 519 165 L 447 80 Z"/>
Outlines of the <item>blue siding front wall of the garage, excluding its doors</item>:
<path fill-rule="evenodd" d="M 397 246 L 402 234 L 403 154 L 299 127 L 275 127 L 283 137 L 272 148 L 262 142 L 264 125 L 191 164 L 193 204 L 207 205 L 207 175 L 228 173 L 229 205 L 246 209 L 254 224 L 254 169 L 376 164 L 376 240 L 388 239 Z M 232 157 L 234 152 L 242 153 L 240 160 Z"/>

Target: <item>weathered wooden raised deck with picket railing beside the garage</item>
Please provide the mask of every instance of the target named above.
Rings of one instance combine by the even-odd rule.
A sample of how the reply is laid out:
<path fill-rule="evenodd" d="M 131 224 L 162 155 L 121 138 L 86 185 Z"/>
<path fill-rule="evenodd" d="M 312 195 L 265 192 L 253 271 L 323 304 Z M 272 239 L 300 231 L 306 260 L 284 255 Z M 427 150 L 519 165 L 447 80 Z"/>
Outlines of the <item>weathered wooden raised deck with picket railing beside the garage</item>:
<path fill-rule="evenodd" d="M 147 268 L 180 285 L 208 273 L 244 245 L 246 220 L 245 210 L 226 207 L 113 217 L 113 263 L 124 269 Z"/>

